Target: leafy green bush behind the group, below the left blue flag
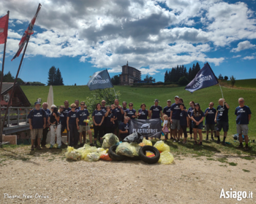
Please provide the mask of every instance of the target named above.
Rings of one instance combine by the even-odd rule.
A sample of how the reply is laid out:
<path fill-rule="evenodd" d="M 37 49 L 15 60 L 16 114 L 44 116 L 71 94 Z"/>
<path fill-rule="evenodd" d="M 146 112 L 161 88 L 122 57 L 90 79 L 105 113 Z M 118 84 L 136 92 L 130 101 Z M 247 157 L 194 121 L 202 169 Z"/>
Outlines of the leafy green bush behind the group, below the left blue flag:
<path fill-rule="evenodd" d="M 106 104 L 111 105 L 115 102 L 115 99 L 120 98 L 119 91 L 115 91 L 113 88 L 107 88 L 102 90 L 93 90 L 91 92 L 91 97 L 86 98 L 86 106 L 89 110 L 89 113 L 92 113 L 95 110 L 95 106 L 97 103 L 99 103 L 102 100 L 106 101 Z"/>

